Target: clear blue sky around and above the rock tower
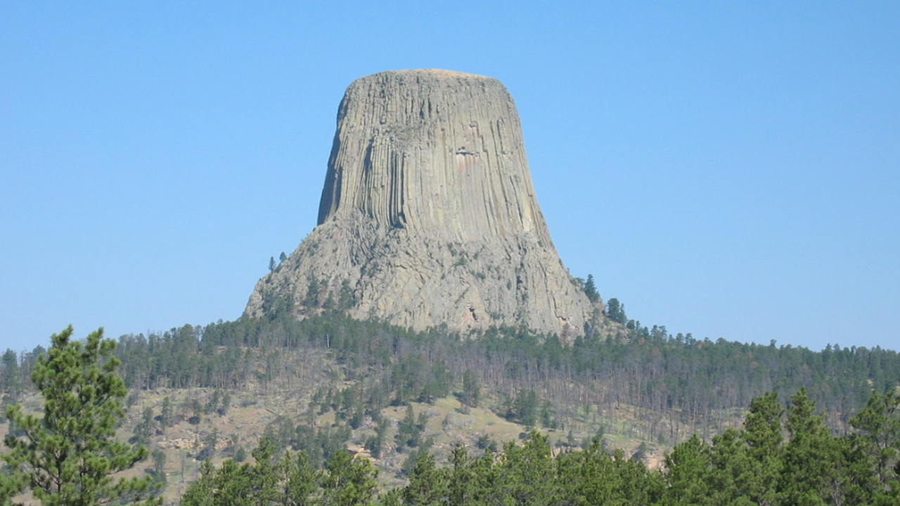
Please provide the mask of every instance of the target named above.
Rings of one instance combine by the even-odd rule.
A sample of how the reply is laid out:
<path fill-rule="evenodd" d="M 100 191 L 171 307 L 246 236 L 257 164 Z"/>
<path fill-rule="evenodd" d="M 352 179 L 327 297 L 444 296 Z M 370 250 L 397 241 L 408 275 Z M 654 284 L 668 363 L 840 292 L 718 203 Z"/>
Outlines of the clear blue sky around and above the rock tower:
<path fill-rule="evenodd" d="M 573 276 L 698 339 L 900 348 L 900 3 L 0 4 L 0 351 L 242 312 L 338 102 L 499 78 Z"/>

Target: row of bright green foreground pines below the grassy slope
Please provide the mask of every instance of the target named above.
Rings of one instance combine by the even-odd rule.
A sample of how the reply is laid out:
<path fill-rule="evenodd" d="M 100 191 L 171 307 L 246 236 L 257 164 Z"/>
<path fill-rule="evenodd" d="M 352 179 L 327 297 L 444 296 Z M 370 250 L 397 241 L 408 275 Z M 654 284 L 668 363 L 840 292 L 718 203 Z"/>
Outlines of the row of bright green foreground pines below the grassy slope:
<path fill-rule="evenodd" d="M 898 409 L 896 392 L 875 393 L 851 420 L 854 432 L 836 437 L 805 389 L 787 409 L 769 393 L 753 400 L 743 429 L 711 442 L 693 436 L 659 470 L 608 451 L 601 438 L 554 456 L 547 438 L 532 431 L 496 453 L 456 444 L 446 465 L 420 453 L 409 483 L 386 490 L 365 459 L 338 453 L 317 470 L 305 452 L 282 454 L 264 438 L 255 465 L 204 465 L 182 504 L 888 506 L 900 502 Z"/>

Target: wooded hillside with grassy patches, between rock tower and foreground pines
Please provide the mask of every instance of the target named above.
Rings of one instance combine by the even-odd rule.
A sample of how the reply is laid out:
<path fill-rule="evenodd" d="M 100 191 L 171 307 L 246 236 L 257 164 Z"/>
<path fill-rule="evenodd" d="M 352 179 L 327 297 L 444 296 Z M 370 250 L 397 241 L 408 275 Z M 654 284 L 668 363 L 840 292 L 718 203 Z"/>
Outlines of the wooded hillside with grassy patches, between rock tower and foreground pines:
<path fill-rule="evenodd" d="M 462 458 L 454 444 L 474 456 L 531 429 L 545 439 L 533 435 L 526 447 L 567 453 L 596 439 L 621 452 L 603 465 L 634 473 L 625 463 L 635 459 L 668 468 L 670 479 L 686 448 L 713 458 L 716 448 L 738 444 L 734 430 L 754 398 L 777 393 L 784 401 L 803 389 L 829 435 L 844 440 L 859 432 L 853 417 L 872 393 L 900 384 L 893 350 L 699 340 L 627 321 L 617 303 L 610 309 L 608 319 L 621 325 L 571 347 L 527 330 L 412 332 L 336 311 L 121 336 L 115 355 L 130 395 L 120 434 L 148 445 L 148 473 L 169 501 L 202 462 L 242 462 L 263 435 L 276 453 L 302 451 L 314 469 L 351 448 L 373 459 L 389 488 L 415 475 L 425 455 L 446 465 Z M 35 402 L 29 376 L 43 353 L 4 353 L 4 404 Z M 518 450 L 502 450 L 510 451 Z M 590 455 L 554 465 L 601 458 Z M 662 476 L 642 473 L 662 486 Z"/>

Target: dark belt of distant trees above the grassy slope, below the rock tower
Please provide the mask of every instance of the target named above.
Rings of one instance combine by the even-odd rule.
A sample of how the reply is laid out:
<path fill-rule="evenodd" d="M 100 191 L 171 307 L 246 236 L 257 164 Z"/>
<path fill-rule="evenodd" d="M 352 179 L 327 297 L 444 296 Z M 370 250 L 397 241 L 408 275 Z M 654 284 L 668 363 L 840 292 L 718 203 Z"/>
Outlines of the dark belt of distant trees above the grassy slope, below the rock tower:
<path fill-rule="evenodd" d="M 566 347 L 555 336 L 527 330 L 466 336 L 440 329 L 413 332 L 328 312 L 304 321 L 240 318 L 126 335 L 116 355 L 132 390 L 265 390 L 275 379 L 290 381 L 322 366 L 304 363 L 304 357 L 327 357 L 344 367 L 349 379 L 359 380 L 354 395 L 371 412 L 454 392 L 464 395 L 467 376 L 470 391 L 481 388 L 482 396 L 505 400 L 496 410 L 519 420 L 527 415 L 523 421 L 532 422 L 527 425 L 603 423 L 627 409 L 635 411 L 635 436 L 660 443 L 683 440 L 695 430 L 704 437 L 720 433 L 740 420 L 753 398 L 767 392 L 789 395 L 801 387 L 842 433 L 873 390 L 900 384 L 900 357 L 893 350 L 829 345 L 812 351 L 774 342 L 700 340 L 636 321 L 627 321 L 626 328 L 626 338 L 576 339 Z M 42 351 L 7 350 L 0 389 L 14 398 L 28 388 L 31 366 Z M 365 374 L 355 378 L 355 371 Z M 523 402 L 534 409 L 517 412 Z M 534 416 L 535 409 L 543 416 Z"/>

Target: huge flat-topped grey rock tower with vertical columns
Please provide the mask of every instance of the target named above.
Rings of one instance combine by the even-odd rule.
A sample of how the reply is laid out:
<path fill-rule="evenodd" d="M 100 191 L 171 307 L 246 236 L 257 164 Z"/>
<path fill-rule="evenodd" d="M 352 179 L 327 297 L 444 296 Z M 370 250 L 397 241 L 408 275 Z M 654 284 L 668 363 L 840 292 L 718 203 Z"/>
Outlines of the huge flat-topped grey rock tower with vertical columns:
<path fill-rule="evenodd" d="M 404 70 L 347 88 L 319 225 L 259 281 L 246 312 L 329 307 L 416 330 L 562 336 L 598 318 L 554 249 L 500 81 Z"/>

